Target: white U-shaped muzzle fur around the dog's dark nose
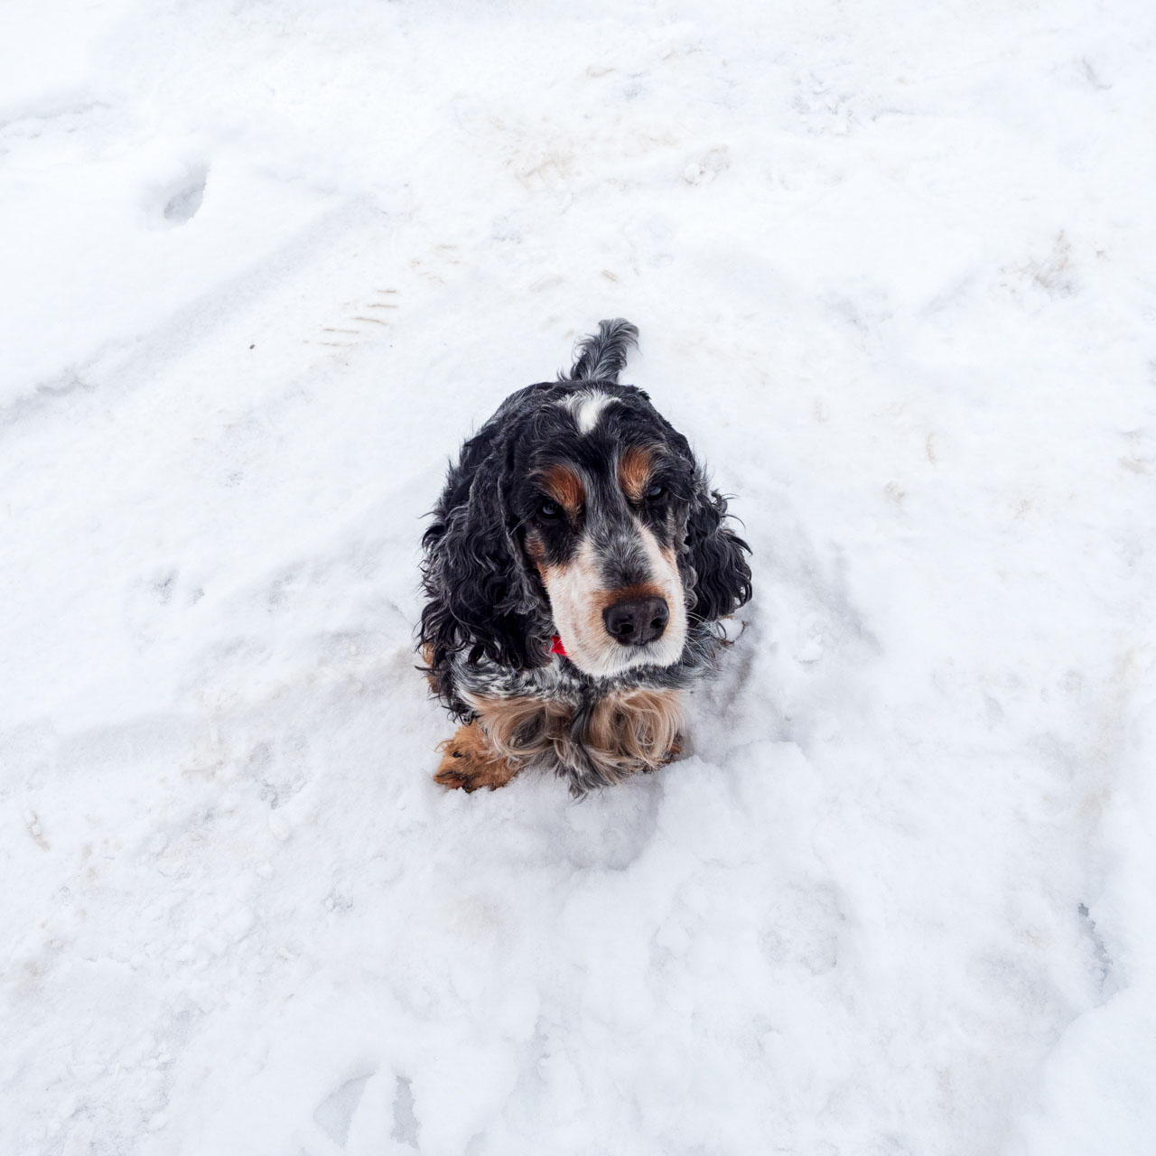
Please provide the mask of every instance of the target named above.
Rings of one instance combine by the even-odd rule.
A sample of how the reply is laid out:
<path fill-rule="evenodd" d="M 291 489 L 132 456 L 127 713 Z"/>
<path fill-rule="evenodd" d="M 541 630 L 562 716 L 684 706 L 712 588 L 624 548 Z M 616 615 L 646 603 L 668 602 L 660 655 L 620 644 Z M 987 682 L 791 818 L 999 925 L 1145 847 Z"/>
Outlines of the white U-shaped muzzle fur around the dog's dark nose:
<path fill-rule="evenodd" d="M 599 608 L 607 593 L 598 572 L 598 558 L 588 538 L 584 538 L 573 562 L 544 575 L 546 593 L 554 612 L 554 624 L 566 657 L 579 670 L 595 677 L 610 677 L 636 666 L 670 666 L 679 661 L 687 644 L 687 602 L 679 568 L 664 556 L 658 540 L 640 523 L 636 524 L 650 561 L 651 581 L 666 599 L 670 617 L 662 637 L 645 646 L 623 646 L 607 632 Z"/>

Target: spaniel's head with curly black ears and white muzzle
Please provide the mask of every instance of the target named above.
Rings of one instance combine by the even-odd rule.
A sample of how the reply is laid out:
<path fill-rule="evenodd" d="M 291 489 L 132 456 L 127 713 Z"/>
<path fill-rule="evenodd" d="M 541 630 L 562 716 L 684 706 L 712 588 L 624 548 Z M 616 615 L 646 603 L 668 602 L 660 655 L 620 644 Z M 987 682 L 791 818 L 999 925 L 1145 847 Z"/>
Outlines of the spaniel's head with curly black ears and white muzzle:
<path fill-rule="evenodd" d="M 435 516 L 422 616 L 435 672 L 460 651 L 540 666 L 553 633 L 590 675 L 670 666 L 694 618 L 750 596 L 725 501 L 632 386 L 513 394 L 466 444 Z"/>

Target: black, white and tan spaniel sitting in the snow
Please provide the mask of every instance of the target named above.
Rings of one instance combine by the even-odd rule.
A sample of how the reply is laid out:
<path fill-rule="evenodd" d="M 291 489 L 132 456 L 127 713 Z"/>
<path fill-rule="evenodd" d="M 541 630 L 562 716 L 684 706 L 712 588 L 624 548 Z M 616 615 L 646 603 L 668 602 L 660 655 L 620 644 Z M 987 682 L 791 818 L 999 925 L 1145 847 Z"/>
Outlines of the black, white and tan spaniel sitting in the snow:
<path fill-rule="evenodd" d="M 451 465 L 422 538 L 418 649 L 461 722 L 433 778 L 542 768 L 571 793 L 680 753 L 683 695 L 751 595 L 750 548 L 687 439 L 620 385 L 638 331 L 601 321 L 556 381 L 512 393 Z"/>

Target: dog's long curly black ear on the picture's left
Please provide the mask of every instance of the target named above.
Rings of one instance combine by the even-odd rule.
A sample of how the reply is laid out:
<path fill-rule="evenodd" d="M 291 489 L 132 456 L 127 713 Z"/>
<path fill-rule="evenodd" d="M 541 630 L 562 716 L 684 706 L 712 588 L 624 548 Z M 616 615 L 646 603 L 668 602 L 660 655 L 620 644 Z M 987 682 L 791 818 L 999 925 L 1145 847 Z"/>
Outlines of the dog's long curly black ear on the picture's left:
<path fill-rule="evenodd" d="M 525 669 L 542 665 L 549 647 L 536 637 L 534 594 L 509 526 L 501 447 L 481 460 L 469 449 L 422 538 L 428 601 L 418 639 L 439 692 L 449 689 L 450 660 L 462 651 L 470 662 L 484 655 Z"/>

